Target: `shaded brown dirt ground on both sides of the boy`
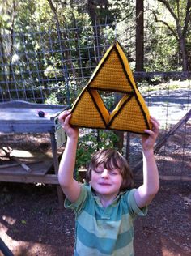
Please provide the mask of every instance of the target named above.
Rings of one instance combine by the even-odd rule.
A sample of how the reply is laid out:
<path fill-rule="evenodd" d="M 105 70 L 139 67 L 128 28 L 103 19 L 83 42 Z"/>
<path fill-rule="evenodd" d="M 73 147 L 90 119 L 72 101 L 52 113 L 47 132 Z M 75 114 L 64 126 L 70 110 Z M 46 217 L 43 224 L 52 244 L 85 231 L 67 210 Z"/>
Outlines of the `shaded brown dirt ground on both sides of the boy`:
<path fill-rule="evenodd" d="M 33 140 L 25 149 L 39 143 L 41 151 L 49 150 L 46 140 Z M 135 256 L 191 255 L 190 192 L 190 181 L 161 181 L 148 215 L 135 221 Z M 70 256 L 74 213 L 59 208 L 56 186 L 0 182 L 0 237 L 15 256 Z"/>

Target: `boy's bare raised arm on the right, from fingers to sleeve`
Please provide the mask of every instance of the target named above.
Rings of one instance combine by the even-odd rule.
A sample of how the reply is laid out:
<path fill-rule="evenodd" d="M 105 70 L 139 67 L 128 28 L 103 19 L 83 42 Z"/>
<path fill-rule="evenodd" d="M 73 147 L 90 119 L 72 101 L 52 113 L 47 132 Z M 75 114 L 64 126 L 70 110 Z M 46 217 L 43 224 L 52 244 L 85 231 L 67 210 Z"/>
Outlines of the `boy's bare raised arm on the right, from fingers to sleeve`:
<path fill-rule="evenodd" d="M 151 203 L 159 190 L 159 173 L 155 162 L 154 144 L 159 134 L 159 122 L 151 117 L 152 130 L 145 130 L 148 135 L 142 136 L 143 184 L 135 190 L 134 198 L 138 207 Z"/>

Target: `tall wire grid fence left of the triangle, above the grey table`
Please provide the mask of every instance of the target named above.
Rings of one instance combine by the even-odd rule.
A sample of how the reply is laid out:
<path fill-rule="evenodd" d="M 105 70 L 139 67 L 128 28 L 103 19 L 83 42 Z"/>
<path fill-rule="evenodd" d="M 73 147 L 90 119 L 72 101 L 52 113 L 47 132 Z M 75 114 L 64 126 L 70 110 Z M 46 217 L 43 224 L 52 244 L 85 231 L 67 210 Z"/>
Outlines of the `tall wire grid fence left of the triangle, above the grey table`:
<path fill-rule="evenodd" d="M 0 101 L 44 103 L 56 93 L 58 102 L 66 103 L 69 91 L 75 94 L 87 83 L 108 49 L 109 29 L 104 25 L 4 35 Z"/>

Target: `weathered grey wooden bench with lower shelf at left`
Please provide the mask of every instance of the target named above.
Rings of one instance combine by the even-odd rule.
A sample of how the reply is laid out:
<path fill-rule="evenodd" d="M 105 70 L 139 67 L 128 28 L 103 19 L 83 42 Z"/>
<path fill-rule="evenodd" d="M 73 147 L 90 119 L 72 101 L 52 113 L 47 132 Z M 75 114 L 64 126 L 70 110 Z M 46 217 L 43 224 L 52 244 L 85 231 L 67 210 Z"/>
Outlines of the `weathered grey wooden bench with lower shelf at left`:
<path fill-rule="evenodd" d="M 25 182 L 25 183 L 45 183 L 58 185 L 58 158 L 57 158 L 57 136 L 59 131 L 63 133 L 62 127 L 57 122 L 59 113 L 67 109 L 62 105 L 33 104 L 26 101 L 12 100 L 0 103 L 0 133 L 1 134 L 40 134 L 49 133 L 54 174 L 49 174 L 49 164 L 44 164 L 40 170 L 40 163 L 33 163 L 32 172 L 26 172 L 22 166 L 14 166 L 0 169 L 0 181 Z M 39 111 L 45 113 L 45 117 L 39 116 Z M 62 134 L 63 135 L 63 134 Z M 64 143 L 64 139 L 62 138 Z M 17 164 L 18 165 L 18 164 Z M 8 168 L 8 170 L 7 170 Z M 59 205 L 63 206 L 63 193 L 60 186 L 57 186 Z"/>

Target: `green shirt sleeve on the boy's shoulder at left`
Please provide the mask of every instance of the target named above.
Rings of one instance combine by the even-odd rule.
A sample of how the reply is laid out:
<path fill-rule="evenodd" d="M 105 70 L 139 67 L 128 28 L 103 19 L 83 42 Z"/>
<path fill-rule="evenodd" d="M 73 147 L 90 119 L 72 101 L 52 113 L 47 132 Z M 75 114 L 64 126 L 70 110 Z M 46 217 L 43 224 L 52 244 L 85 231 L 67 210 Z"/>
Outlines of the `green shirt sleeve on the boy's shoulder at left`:
<path fill-rule="evenodd" d="M 74 203 L 71 203 L 70 200 L 68 200 L 68 198 L 66 198 L 64 206 L 66 208 L 74 210 L 74 212 L 76 214 L 79 214 L 79 212 L 81 212 L 83 210 L 83 206 L 85 205 L 85 202 L 86 202 L 86 199 L 87 199 L 87 194 L 88 194 L 87 193 L 87 187 L 81 185 L 79 198 Z"/>

